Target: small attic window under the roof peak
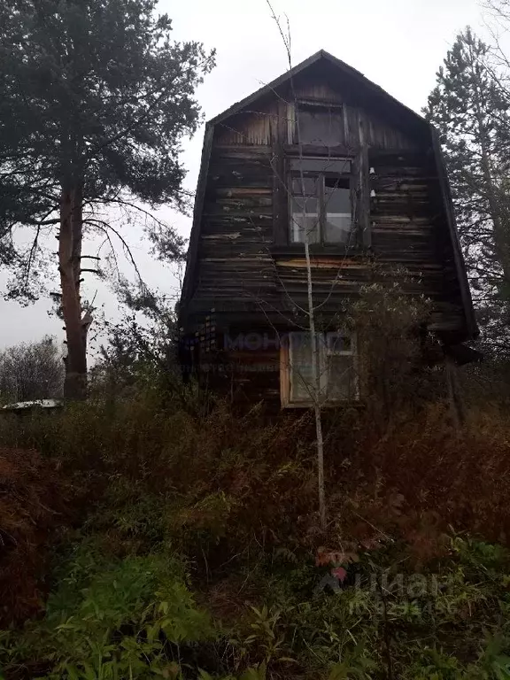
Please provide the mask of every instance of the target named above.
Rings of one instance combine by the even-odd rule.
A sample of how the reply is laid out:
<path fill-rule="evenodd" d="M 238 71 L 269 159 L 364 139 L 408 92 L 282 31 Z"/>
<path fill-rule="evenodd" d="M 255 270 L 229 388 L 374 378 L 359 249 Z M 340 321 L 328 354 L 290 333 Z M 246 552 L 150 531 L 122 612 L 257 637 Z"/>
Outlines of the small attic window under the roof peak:
<path fill-rule="evenodd" d="M 322 102 L 298 101 L 294 110 L 290 143 L 331 147 L 343 142 L 341 106 Z"/>

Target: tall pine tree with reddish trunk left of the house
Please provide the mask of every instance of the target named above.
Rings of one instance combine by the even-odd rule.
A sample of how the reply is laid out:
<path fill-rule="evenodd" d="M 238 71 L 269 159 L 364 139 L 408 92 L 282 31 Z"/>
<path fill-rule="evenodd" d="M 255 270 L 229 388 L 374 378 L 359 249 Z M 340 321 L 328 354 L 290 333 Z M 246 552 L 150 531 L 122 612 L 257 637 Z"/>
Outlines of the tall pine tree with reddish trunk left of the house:
<path fill-rule="evenodd" d="M 83 398 L 87 329 L 80 295 L 84 228 L 104 207 L 182 205 L 182 135 L 200 118 L 197 84 L 213 66 L 197 42 L 171 42 L 157 0 L 4 0 L 0 6 L 0 243 L 27 295 L 41 236 L 57 229 L 66 388 Z M 34 230 L 13 251 L 12 230 Z M 117 233 L 117 232 L 115 232 Z M 161 239 L 161 234 L 153 235 Z M 171 230 L 166 251 L 180 252 Z M 120 236 L 121 238 L 121 236 Z"/>

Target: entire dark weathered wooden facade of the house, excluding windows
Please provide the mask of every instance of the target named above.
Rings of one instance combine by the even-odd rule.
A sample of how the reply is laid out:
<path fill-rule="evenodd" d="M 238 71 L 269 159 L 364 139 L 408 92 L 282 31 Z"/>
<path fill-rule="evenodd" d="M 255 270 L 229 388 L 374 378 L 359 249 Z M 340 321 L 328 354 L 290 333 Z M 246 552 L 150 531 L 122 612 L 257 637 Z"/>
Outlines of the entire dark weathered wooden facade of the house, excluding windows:
<path fill-rule="evenodd" d="M 310 66 L 292 87 L 286 82 L 277 91 L 267 89 L 209 128 L 211 149 L 192 235 L 194 265 L 187 272 L 181 319 L 184 334 L 198 336 L 205 317 L 214 318 L 219 340 L 200 359 L 209 363 L 202 381 L 213 389 L 247 390 L 251 400 L 279 401 L 279 352 L 274 346 L 243 351 L 230 346 L 231 340 L 250 332 L 274 338 L 305 323 L 304 247 L 289 242 L 285 174 L 286 158 L 297 153 L 289 133 L 295 100 L 337 106 L 338 144 L 328 153 L 351 156 L 359 176 L 355 245 L 311 247 L 321 321 L 334 324 L 346 297 L 404 267 L 410 274 L 406 291 L 433 300 L 430 328 L 452 343 L 468 336 L 452 215 L 427 124 L 416 123 L 413 133 L 413 114 L 356 97 L 346 87 L 348 75 L 337 76 L 323 64 Z"/>

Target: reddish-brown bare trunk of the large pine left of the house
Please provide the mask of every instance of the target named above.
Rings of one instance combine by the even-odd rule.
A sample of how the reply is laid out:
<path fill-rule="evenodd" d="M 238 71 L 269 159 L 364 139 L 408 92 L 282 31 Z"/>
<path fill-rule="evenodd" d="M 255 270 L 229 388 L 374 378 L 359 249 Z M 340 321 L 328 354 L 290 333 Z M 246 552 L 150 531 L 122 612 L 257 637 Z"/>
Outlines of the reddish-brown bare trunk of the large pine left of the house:
<path fill-rule="evenodd" d="M 87 397 L 87 329 L 81 319 L 80 267 L 83 229 L 80 187 L 62 189 L 58 269 L 62 288 L 62 312 L 66 324 L 67 357 L 64 398 Z"/>

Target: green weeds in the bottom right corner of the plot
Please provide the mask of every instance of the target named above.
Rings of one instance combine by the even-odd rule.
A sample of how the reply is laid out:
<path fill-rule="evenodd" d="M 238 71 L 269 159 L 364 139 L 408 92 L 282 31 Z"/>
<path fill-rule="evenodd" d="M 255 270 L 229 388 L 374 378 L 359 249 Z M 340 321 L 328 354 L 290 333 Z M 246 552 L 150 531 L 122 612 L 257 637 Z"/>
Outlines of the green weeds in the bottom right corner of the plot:
<path fill-rule="evenodd" d="M 275 612 L 282 649 L 298 668 L 314 668 L 320 676 L 329 667 L 333 678 L 387 677 L 389 658 L 394 676 L 409 680 L 495 680 L 505 673 L 508 553 L 455 536 L 448 557 L 422 573 L 406 561 L 402 546 L 394 544 L 364 553 L 354 583 L 306 600 L 272 579 L 266 599 L 285 602 Z M 274 614 L 265 614 L 273 626 Z"/>

